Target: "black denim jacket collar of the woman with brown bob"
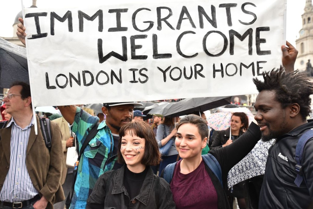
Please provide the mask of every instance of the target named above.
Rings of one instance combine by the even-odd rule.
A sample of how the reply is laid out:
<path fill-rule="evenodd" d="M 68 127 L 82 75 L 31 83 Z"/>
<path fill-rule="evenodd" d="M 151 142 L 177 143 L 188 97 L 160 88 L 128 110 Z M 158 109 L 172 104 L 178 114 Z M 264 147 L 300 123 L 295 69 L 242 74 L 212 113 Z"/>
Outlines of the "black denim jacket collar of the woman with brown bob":
<path fill-rule="evenodd" d="M 112 194 L 119 194 L 119 193 L 124 192 L 125 194 L 128 195 L 126 188 L 124 186 L 125 166 L 126 165 L 124 165 L 117 171 L 117 174 L 114 180 Z M 147 206 L 149 202 L 149 198 L 150 198 L 151 190 L 152 190 L 153 178 L 154 178 L 153 171 L 150 168 L 146 174 L 145 180 L 142 183 L 139 194 L 135 197 L 137 200 L 141 201 L 142 204 L 144 204 L 145 206 Z"/>

